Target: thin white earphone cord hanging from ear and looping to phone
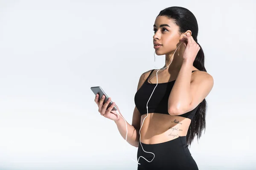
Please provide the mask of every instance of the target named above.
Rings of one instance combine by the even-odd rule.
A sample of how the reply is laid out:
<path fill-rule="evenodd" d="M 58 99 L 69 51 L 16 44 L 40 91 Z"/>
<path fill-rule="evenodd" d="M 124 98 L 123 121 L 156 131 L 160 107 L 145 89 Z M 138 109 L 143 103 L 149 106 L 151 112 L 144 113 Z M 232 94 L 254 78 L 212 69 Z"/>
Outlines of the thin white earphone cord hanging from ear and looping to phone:
<path fill-rule="evenodd" d="M 186 35 L 184 35 L 184 36 L 186 36 Z M 182 43 L 180 43 L 180 45 L 181 45 L 181 44 L 182 44 Z M 180 46 L 180 45 L 179 45 L 179 46 Z M 176 50 L 179 48 L 179 46 L 176 48 Z M 174 56 L 176 50 L 174 51 L 173 56 Z M 172 60 L 173 60 L 173 58 L 172 58 Z M 171 63 L 172 63 L 172 61 L 171 61 Z M 170 64 L 171 64 L 171 63 L 170 63 Z M 170 64 L 169 64 L 169 65 L 170 65 Z M 167 67 L 169 67 L 169 65 L 168 65 Z M 165 67 L 165 68 L 167 68 L 167 67 Z M 155 67 L 155 68 L 157 68 L 157 67 Z M 160 69 L 165 69 L 165 68 L 160 68 Z M 157 68 L 157 72 L 158 72 L 160 69 Z M 157 73 L 156 73 L 156 74 L 157 74 Z M 158 84 L 158 78 L 157 78 L 157 84 Z M 157 87 L 157 85 L 155 86 L 155 88 L 156 88 L 156 87 Z M 154 88 L 154 89 L 155 89 L 155 88 Z M 153 93 L 154 93 L 154 90 L 153 90 L 152 94 L 153 94 Z M 151 96 L 152 96 L 152 94 L 151 94 Z M 149 97 L 148 102 L 149 102 L 151 96 Z M 146 108 L 147 108 L 147 116 L 148 116 L 148 102 L 147 102 L 147 107 L 146 107 Z M 117 110 L 116 110 L 116 112 L 121 116 L 121 114 L 120 114 Z M 147 117 L 147 116 L 146 116 L 146 117 Z M 123 116 L 121 116 L 121 117 L 122 117 L 122 119 L 124 119 Z M 146 117 L 145 117 L 145 118 L 146 118 Z M 144 122 L 145 118 L 143 119 L 143 122 Z M 126 125 L 126 137 L 125 137 L 125 141 L 127 142 L 128 130 L 127 130 L 127 123 L 126 123 L 126 120 L 124 119 L 124 121 L 125 121 L 125 125 Z M 143 122 L 142 122 L 141 127 L 143 126 Z M 140 130 L 141 130 L 141 127 L 140 127 Z M 140 138 L 141 138 L 141 135 L 140 135 Z M 142 147 L 142 149 L 143 149 L 143 146 L 142 146 L 141 142 L 140 142 L 140 145 L 141 145 L 141 147 Z M 145 151 L 144 149 L 143 149 L 143 151 L 146 152 L 146 153 L 152 153 L 152 152 L 147 152 L 147 151 Z M 154 155 L 154 153 L 152 153 L 152 154 Z M 140 156 L 140 157 L 144 158 L 143 156 Z M 138 161 L 135 161 L 135 160 L 132 159 L 132 158 L 131 158 L 131 159 L 132 159 L 133 161 L 137 162 L 137 164 L 140 164 L 140 163 L 139 163 L 140 157 L 138 158 Z M 154 157 L 155 157 L 155 155 L 154 155 Z M 154 157 L 153 157 L 153 159 L 154 159 Z M 145 159 L 145 158 L 144 158 L 144 159 Z M 151 161 L 153 161 L 153 159 L 152 159 Z M 147 159 L 145 159 L 145 160 L 148 161 Z M 151 161 L 148 161 L 148 162 L 151 162 Z"/>

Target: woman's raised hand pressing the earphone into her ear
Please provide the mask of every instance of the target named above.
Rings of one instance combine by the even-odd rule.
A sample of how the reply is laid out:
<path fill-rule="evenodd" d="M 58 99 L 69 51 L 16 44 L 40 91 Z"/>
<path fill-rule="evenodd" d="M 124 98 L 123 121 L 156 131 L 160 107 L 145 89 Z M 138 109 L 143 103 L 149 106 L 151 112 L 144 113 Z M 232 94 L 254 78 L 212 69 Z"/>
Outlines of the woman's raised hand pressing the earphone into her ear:
<path fill-rule="evenodd" d="M 185 45 L 183 60 L 193 63 L 198 51 L 200 50 L 200 46 L 195 42 L 192 36 L 184 36 L 181 41 Z"/>

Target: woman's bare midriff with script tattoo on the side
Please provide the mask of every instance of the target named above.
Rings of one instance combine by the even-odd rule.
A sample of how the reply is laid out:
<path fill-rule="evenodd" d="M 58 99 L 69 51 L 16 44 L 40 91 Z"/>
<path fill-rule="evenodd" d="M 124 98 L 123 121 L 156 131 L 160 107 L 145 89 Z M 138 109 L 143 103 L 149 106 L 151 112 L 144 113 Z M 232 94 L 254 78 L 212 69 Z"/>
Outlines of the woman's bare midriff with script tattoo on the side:
<path fill-rule="evenodd" d="M 140 127 L 147 114 L 141 116 Z M 140 142 L 157 144 L 186 136 L 191 120 L 182 116 L 148 113 L 140 130 Z"/>

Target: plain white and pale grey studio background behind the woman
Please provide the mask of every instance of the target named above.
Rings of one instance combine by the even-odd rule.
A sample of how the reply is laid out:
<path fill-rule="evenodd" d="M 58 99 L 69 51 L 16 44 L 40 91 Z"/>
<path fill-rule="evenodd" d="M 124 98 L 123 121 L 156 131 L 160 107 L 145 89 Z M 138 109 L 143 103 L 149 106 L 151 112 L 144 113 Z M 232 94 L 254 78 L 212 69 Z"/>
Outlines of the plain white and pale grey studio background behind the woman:
<path fill-rule="evenodd" d="M 200 170 L 256 169 L 253 0 L 0 0 L 0 170 L 135 170 L 137 148 L 101 116 L 101 86 L 131 124 L 154 62 L 161 10 L 188 8 L 214 78 L 207 128 L 189 148 Z"/>

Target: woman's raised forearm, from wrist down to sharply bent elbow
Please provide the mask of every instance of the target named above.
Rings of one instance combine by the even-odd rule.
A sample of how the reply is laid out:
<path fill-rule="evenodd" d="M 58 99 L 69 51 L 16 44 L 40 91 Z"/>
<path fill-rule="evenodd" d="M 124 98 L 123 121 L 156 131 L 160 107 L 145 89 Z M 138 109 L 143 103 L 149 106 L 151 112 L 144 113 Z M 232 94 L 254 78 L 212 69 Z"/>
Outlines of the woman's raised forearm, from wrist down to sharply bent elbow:
<path fill-rule="evenodd" d="M 183 60 L 179 74 L 168 99 L 169 113 L 182 113 L 192 101 L 190 82 L 193 64 Z"/>

